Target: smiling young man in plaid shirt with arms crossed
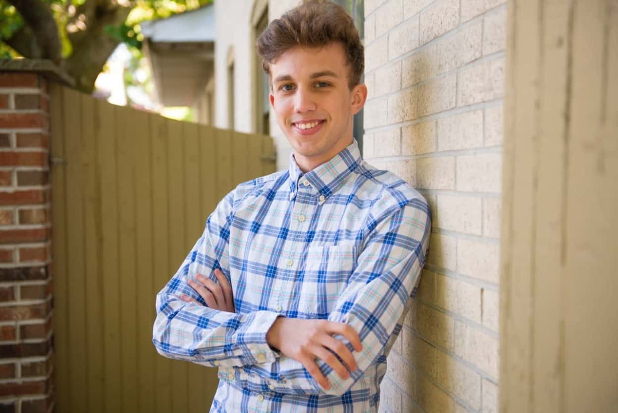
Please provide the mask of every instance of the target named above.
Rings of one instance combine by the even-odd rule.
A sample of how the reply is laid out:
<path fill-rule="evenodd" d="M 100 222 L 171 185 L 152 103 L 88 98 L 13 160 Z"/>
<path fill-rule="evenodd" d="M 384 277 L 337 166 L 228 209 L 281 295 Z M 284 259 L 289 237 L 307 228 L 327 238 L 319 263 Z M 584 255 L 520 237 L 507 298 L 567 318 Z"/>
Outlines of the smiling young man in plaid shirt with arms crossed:
<path fill-rule="evenodd" d="M 429 210 L 360 158 L 363 46 L 341 7 L 304 2 L 258 49 L 294 150 L 289 170 L 219 203 L 157 295 L 153 342 L 219 368 L 211 412 L 376 412 L 425 264 Z"/>

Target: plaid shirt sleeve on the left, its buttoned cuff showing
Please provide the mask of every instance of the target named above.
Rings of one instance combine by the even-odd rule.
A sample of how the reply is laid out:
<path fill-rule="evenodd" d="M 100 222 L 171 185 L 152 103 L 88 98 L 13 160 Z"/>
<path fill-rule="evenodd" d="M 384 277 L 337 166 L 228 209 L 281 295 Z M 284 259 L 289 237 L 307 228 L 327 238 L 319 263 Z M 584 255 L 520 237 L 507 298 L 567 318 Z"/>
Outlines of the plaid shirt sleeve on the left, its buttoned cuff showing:
<path fill-rule="evenodd" d="M 273 362 L 281 353 L 266 342 L 266 333 L 279 314 L 254 311 L 237 314 L 213 310 L 188 285 L 197 273 L 216 280 L 214 269 L 229 279 L 229 233 L 233 193 L 219 202 L 201 237 L 169 282 L 156 295 L 153 344 L 159 354 L 210 367 Z M 182 293 L 201 305 L 180 299 Z"/>

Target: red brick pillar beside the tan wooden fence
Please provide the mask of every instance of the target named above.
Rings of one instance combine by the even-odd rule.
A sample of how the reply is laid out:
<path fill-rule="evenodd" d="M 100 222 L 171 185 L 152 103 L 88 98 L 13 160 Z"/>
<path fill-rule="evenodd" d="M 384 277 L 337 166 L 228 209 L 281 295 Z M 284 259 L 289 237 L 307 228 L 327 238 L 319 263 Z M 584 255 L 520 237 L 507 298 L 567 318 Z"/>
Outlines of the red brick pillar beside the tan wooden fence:
<path fill-rule="evenodd" d="M 0 72 L 0 413 L 53 410 L 48 100 Z"/>

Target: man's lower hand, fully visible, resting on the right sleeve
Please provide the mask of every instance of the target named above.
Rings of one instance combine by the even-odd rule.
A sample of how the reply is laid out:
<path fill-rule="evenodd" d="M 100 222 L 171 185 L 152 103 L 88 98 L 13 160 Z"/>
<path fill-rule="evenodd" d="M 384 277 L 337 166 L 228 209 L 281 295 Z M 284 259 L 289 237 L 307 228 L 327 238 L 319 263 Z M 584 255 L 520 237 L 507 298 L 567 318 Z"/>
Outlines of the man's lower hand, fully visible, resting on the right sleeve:
<path fill-rule="evenodd" d="M 352 343 L 354 350 L 363 349 L 358 334 L 345 323 L 328 320 L 304 320 L 300 318 L 279 317 L 266 333 L 266 341 L 271 347 L 279 349 L 287 357 L 302 363 L 307 371 L 324 389 L 331 387 L 320 371 L 315 359 L 321 359 L 346 379 L 358 368 L 352 352 L 332 334 L 341 334 Z M 347 368 L 337 360 L 337 354 Z"/>

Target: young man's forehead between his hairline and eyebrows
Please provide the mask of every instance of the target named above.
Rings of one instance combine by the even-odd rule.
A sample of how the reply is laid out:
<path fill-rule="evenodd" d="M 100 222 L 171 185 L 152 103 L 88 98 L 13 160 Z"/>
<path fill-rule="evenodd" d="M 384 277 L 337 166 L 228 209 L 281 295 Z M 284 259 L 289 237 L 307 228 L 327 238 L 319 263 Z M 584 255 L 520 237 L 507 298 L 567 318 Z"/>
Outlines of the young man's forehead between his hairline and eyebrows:
<path fill-rule="evenodd" d="M 320 48 L 294 46 L 269 65 L 273 79 L 289 76 L 293 79 L 309 77 L 316 72 L 335 72 L 340 77 L 347 74 L 345 50 L 339 42 Z"/>

